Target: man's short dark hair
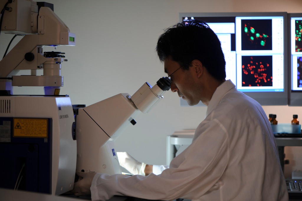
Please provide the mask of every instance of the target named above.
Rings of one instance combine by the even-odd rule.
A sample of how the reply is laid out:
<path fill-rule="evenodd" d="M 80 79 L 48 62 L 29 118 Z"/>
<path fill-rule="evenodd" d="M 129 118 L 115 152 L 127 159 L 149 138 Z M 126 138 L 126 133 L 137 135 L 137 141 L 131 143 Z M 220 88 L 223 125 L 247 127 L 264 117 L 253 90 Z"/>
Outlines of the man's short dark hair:
<path fill-rule="evenodd" d="M 203 21 L 188 20 L 165 30 L 159 36 L 156 51 L 161 62 L 171 56 L 182 69 L 188 70 L 198 59 L 217 80 L 225 79 L 225 60 L 220 41 Z"/>

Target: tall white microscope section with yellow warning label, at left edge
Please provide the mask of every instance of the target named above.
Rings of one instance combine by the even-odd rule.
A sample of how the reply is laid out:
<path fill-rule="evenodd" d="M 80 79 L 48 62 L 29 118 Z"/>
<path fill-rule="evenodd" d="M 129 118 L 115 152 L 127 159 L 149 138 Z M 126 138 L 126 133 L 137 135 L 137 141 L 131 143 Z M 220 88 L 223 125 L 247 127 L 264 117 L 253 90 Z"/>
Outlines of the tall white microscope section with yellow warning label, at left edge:
<path fill-rule="evenodd" d="M 6 172 L 0 187 L 59 195 L 74 185 L 74 116 L 69 97 L 53 96 L 63 86 L 66 60 L 61 52 L 43 52 L 43 46 L 74 46 L 75 34 L 40 3 L 1 0 L 0 7 L 2 34 L 24 35 L 0 61 L 0 169 Z M 15 76 L 20 70 L 31 74 Z M 12 86 L 44 86 L 52 96 L 12 95 Z"/>

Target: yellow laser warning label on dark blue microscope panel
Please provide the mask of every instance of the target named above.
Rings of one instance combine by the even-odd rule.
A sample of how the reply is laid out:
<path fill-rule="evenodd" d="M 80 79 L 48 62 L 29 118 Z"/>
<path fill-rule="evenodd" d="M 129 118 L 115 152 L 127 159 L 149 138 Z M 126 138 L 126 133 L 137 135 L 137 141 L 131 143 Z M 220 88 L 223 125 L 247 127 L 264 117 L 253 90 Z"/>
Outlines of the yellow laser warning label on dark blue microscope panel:
<path fill-rule="evenodd" d="M 47 137 L 48 119 L 14 118 L 14 137 Z"/>

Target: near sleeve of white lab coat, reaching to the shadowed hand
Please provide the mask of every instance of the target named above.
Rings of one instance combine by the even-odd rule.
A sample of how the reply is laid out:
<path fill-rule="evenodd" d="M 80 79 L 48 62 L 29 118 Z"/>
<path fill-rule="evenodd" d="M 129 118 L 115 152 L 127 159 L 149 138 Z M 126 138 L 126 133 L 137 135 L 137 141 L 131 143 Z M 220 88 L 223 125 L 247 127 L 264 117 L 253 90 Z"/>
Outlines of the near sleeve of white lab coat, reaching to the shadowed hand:
<path fill-rule="evenodd" d="M 196 132 L 200 135 L 162 174 L 96 174 L 90 188 L 92 200 L 108 200 L 114 195 L 153 200 L 198 199 L 209 190 L 217 190 L 229 160 L 226 130 L 214 120 L 202 122 Z"/>

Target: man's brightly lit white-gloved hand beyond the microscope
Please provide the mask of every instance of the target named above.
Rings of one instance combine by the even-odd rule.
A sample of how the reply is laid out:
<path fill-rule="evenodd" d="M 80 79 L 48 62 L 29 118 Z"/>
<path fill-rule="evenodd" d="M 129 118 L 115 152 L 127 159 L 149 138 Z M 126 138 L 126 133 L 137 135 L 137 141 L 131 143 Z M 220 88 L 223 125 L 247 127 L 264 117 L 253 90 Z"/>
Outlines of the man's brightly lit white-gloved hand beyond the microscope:
<path fill-rule="evenodd" d="M 146 163 L 135 160 L 127 152 L 117 152 L 117 157 L 120 162 L 120 166 L 128 170 L 131 174 L 145 174 Z"/>

